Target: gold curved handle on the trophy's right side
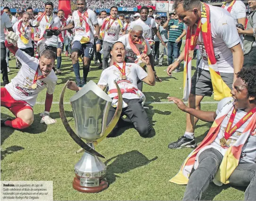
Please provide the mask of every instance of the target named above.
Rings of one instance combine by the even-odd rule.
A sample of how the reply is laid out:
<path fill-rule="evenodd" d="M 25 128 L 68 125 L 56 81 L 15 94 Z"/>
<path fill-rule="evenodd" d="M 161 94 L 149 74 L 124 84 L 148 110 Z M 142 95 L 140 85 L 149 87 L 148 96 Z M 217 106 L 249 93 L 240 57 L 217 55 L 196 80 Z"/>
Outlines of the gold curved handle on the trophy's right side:
<path fill-rule="evenodd" d="M 119 121 L 119 117 L 122 113 L 122 109 L 123 109 L 123 97 L 122 97 L 122 93 L 121 90 L 118 86 L 118 84 L 115 82 L 115 85 L 117 87 L 117 91 L 118 91 L 118 105 L 117 105 L 117 109 L 116 112 L 112 118 L 112 120 L 110 121 L 109 125 L 107 126 L 103 136 L 99 139 L 94 140 L 94 145 L 98 145 L 105 137 L 107 137 L 110 132 L 115 128 L 117 122 Z"/>

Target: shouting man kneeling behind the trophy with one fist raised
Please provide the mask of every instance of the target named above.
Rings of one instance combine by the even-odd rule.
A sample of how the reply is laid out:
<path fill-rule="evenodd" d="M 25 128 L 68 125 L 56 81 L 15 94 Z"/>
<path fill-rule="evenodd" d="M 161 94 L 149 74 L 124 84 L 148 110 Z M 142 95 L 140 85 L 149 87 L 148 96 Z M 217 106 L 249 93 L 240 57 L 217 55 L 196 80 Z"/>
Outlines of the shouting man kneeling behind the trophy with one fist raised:
<path fill-rule="evenodd" d="M 142 80 L 148 85 L 155 84 L 155 76 L 149 62 L 149 57 L 146 54 L 141 55 L 141 61 L 147 66 L 145 72 L 139 65 L 134 63 L 126 63 L 125 46 L 122 42 L 116 42 L 111 49 L 111 56 L 113 58 L 113 65 L 102 71 L 98 86 L 104 90 L 108 85 L 108 94 L 113 99 L 112 107 L 110 109 L 107 125 L 110 123 L 117 107 L 118 94 L 114 80 L 117 82 L 123 97 L 123 109 L 121 115 L 126 115 L 133 123 L 138 133 L 147 137 L 151 131 L 151 125 L 147 114 L 143 108 L 145 102 L 144 94 L 137 88 L 137 80 Z M 75 82 L 68 82 L 68 88 L 78 91 L 81 88 L 77 87 Z M 120 124 L 120 122 L 118 123 Z M 118 125 L 112 130 L 109 135 L 116 134 Z"/>

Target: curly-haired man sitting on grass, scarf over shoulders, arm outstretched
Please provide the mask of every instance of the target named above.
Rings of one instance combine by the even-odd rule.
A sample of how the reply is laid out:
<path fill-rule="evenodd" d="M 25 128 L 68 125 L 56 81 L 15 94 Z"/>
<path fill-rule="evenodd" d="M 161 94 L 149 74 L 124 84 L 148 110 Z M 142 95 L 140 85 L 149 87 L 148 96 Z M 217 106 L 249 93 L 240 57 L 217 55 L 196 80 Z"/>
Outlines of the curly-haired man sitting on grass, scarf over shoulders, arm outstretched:
<path fill-rule="evenodd" d="M 187 184 L 184 200 L 200 200 L 211 181 L 216 185 L 247 186 L 245 200 L 256 200 L 256 66 L 237 73 L 232 97 L 216 112 L 192 109 L 168 97 L 180 110 L 212 122 L 203 142 L 188 155 L 170 182 Z"/>

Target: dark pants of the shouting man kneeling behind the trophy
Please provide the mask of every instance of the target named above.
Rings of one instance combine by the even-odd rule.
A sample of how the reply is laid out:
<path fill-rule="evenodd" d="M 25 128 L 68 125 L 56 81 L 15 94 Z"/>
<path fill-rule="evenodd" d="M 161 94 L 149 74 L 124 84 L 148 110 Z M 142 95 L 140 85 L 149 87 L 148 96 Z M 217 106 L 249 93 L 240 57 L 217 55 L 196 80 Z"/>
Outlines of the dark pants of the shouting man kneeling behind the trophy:
<path fill-rule="evenodd" d="M 126 115 L 133 123 L 135 129 L 142 137 L 147 137 L 151 132 L 151 124 L 148 120 L 147 114 L 142 107 L 142 99 L 126 99 L 123 101 L 128 104 L 128 107 L 122 109 L 121 116 Z M 116 108 L 111 107 L 107 119 L 107 125 L 109 125 L 111 119 L 116 112 Z M 115 136 L 118 127 L 124 126 L 124 121 L 119 120 L 115 128 L 109 134 L 109 137 Z"/>

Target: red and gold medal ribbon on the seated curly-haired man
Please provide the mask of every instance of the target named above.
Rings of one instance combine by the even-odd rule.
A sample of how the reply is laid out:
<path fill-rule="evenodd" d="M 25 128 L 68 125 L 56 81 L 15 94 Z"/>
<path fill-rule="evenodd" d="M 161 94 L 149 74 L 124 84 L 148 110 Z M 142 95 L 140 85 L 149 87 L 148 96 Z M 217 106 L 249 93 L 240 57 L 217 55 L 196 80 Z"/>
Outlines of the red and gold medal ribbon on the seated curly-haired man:
<path fill-rule="evenodd" d="M 236 123 L 236 125 L 233 125 L 237 109 L 234 107 L 232 114 L 230 116 L 230 120 L 228 122 L 227 128 L 225 130 L 224 138 L 227 140 L 232 136 L 237 129 L 239 129 L 250 117 L 256 112 L 256 107 L 251 109 L 242 119 L 240 119 L 239 122 Z M 232 128 L 231 128 L 232 127 Z"/>

